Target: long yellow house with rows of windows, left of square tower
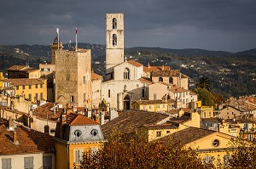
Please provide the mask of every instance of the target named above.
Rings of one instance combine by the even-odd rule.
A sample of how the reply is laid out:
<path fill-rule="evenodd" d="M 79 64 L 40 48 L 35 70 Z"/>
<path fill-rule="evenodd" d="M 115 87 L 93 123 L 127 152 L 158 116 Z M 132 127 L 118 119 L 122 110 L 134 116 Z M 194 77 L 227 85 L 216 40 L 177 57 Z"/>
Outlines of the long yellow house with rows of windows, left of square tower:
<path fill-rule="evenodd" d="M 47 100 L 47 80 L 46 79 L 28 79 L 28 78 L 18 78 L 18 79 L 4 79 L 3 80 L 3 90 L 5 87 L 11 87 L 10 93 L 6 93 L 10 96 L 24 97 L 32 102 L 37 102 L 37 100 Z"/>

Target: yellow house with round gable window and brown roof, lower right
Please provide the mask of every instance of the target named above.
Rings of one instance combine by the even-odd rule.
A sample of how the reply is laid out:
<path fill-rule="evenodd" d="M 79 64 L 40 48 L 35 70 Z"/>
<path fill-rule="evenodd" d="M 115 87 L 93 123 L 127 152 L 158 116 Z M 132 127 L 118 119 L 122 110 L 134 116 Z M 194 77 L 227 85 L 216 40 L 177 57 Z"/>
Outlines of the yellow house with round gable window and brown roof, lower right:
<path fill-rule="evenodd" d="M 230 149 L 228 134 L 198 127 L 187 127 L 178 132 L 156 139 L 162 144 L 182 144 L 184 148 L 192 148 L 198 152 L 206 163 L 217 164 L 218 158 L 224 161 L 226 150 Z M 213 157 L 215 161 L 213 160 Z"/>

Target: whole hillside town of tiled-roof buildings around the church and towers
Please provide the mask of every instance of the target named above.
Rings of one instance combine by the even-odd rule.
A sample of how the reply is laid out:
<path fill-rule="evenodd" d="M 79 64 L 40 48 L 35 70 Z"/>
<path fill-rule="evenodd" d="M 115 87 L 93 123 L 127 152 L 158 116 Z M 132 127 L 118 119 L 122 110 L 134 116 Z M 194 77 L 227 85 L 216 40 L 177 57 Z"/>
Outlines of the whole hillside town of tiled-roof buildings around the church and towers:
<path fill-rule="evenodd" d="M 117 132 L 177 141 L 213 165 L 230 158 L 232 139 L 255 138 L 255 95 L 205 105 L 181 70 L 128 59 L 124 14 L 106 14 L 106 75 L 92 70 L 90 49 L 63 48 L 58 30 L 53 39 L 51 63 L 0 72 L 2 168 L 79 168 Z"/>

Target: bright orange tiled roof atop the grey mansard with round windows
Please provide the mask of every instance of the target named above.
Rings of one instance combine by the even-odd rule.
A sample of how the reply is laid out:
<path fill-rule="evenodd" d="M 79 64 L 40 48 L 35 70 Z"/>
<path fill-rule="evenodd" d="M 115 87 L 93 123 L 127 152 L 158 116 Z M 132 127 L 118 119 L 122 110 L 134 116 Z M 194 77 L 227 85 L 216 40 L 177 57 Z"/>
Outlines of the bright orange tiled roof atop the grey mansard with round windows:
<path fill-rule="evenodd" d="M 78 113 L 70 113 L 66 116 L 66 124 L 72 126 L 99 125 L 98 122 Z"/>

